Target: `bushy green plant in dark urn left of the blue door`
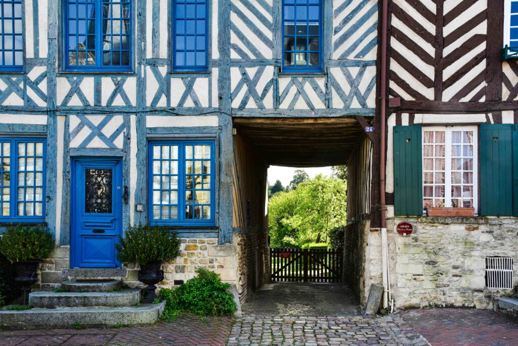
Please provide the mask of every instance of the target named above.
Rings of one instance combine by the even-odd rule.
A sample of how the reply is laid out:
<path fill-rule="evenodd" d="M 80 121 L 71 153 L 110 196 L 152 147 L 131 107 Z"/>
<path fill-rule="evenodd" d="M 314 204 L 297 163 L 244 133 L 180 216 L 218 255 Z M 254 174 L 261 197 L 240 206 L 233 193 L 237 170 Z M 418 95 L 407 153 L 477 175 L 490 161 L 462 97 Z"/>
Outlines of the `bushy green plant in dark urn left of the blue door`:
<path fill-rule="evenodd" d="M 38 282 L 38 265 L 54 248 L 52 232 L 43 226 L 7 227 L 0 238 L 0 253 L 14 263 L 15 283 L 21 286 L 20 302 L 25 305 L 31 285 Z"/>

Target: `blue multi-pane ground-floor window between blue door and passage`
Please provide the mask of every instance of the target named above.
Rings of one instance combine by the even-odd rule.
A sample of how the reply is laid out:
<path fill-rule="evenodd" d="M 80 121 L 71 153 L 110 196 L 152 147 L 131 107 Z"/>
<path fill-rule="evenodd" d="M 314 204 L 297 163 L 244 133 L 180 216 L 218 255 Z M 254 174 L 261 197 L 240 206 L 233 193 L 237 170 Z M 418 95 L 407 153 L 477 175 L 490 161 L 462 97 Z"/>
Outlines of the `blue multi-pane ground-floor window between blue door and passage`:
<path fill-rule="evenodd" d="M 149 143 L 150 223 L 214 226 L 215 141 Z"/>

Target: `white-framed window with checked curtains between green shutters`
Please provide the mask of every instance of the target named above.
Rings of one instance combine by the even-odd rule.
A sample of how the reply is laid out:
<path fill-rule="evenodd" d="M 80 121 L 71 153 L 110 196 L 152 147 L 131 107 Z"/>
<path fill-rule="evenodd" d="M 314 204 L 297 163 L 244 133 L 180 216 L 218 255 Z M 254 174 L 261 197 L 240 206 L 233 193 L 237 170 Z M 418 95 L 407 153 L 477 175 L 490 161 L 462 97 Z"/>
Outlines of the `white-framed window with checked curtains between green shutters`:
<path fill-rule="evenodd" d="M 423 127 L 423 213 L 473 207 L 478 213 L 477 127 Z"/>

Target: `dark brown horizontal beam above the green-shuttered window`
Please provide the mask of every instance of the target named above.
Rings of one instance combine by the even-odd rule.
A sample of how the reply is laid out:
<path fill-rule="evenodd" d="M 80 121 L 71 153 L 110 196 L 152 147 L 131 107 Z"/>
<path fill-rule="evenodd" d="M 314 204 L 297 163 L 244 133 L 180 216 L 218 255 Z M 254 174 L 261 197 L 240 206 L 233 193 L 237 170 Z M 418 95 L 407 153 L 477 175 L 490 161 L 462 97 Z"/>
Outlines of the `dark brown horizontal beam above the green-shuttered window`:
<path fill-rule="evenodd" d="M 401 100 L 401 106 L 390 108 L 390 113 L 490 113 L 515 109 L 518 109 L 518 101 L 443 102 Z"/>

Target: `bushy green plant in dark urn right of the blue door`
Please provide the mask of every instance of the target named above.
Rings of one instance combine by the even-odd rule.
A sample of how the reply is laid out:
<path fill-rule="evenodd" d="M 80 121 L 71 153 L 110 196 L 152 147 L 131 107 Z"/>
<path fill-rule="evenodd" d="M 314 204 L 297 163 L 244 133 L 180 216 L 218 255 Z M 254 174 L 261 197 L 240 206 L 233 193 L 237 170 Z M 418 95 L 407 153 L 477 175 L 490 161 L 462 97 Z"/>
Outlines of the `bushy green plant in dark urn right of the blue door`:
<path fill-rule="evenodd" d="M 164 280 L 162 262 L 170 262 L 180 255 L 181 240 L 176 232 L 165 226 L 139 224 L 128 226 L 124 236 L 119 236 L 115 244 L 117 258 L 127 266 L 138 263 L 138 280 L 147 285 L 146 302 L 160 299 L 156 293 L 156 284 Z"/>

